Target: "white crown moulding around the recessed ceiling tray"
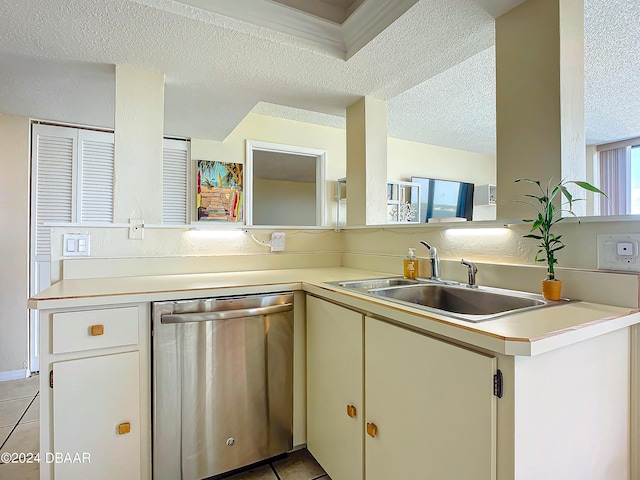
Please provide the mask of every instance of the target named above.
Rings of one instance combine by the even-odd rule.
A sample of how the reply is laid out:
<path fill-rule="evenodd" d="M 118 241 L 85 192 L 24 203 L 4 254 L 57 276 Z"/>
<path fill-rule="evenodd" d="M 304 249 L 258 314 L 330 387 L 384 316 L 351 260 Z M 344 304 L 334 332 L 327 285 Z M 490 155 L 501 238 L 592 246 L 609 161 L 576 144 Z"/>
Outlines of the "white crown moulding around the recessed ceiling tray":
<path fill-rule="evenodd" d="M 147 3 L 145 0 L 140 3 Z M 259 32 L 270 39 L 270 30 L 284 33 L 297 40 L 308 42 L 314 49 L 320 48 L 325 54 L 348 60 L 362 47 L 373 40 L 401 15 L 409 10 L 418 0 L 364 0 L 344 23 L 339 24 L 293 6 L 277 1 L 265 0 L 174 0 L 174 2 L 158 2 L 157 8 L 187 14 L 187 11 L 170 8 L 170 3 L 179 3 L 195 7 L 217 15 L 233 18 L 267 29 Z M 284 3 L 284 2 L 283 2 Z M 287 0 L 295 4 L 295 1 Z M 335 2 L 331 2 L 335 3 Z M 357 4 L 358 2 L 352 2 Z M 233 28 L 232 25 L 226 25 Z"/>

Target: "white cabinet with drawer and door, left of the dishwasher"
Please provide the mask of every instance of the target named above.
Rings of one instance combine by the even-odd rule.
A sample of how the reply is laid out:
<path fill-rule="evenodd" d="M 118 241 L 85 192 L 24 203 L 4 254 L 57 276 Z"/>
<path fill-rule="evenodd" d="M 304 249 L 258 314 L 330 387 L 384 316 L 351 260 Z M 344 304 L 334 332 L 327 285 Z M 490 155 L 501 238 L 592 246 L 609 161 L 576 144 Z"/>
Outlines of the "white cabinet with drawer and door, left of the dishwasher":
<path fill-rule="evenodd" d="M 41 318 L 40 479 L 150 479 L 149 305 Z"/>

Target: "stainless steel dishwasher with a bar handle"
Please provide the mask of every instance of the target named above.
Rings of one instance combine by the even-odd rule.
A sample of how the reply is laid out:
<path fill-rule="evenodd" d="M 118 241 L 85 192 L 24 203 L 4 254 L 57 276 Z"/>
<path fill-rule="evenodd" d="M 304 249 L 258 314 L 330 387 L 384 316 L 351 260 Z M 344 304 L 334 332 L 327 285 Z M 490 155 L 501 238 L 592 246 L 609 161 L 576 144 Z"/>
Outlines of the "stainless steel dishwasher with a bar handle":
<path fill-rule="evenodd" d="M 293 294 L 155 302 L 153 478 L 200 480 L 293 447 Z"/>

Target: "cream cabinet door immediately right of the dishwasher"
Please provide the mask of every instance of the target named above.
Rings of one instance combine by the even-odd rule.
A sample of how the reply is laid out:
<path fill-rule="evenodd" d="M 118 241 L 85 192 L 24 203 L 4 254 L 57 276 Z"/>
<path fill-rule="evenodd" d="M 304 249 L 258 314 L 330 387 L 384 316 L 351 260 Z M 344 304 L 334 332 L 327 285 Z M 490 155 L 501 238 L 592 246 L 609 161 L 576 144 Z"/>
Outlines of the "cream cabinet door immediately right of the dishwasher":
<path fill-rule="evenodd" d="M 363 478 L 362 322 L 307 297 L 307 446 L 333 480 Z"/>

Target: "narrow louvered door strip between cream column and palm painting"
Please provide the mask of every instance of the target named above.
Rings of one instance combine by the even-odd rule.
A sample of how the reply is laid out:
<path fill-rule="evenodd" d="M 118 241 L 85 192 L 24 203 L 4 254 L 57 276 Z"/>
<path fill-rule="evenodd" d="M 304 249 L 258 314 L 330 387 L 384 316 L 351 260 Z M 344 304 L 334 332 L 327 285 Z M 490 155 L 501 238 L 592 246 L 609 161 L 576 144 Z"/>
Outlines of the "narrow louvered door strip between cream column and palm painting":
<path fill-rule="evenodd" d="M 165 139 L 162 159 L 162 223 L 187 223 L 189 142 Z"/>

